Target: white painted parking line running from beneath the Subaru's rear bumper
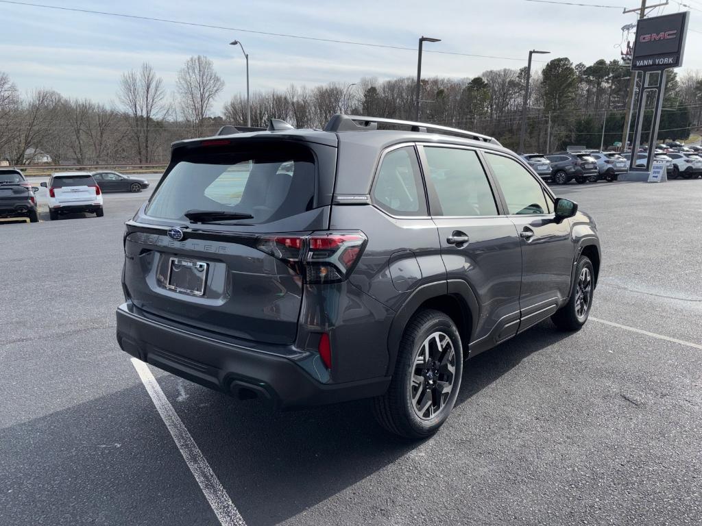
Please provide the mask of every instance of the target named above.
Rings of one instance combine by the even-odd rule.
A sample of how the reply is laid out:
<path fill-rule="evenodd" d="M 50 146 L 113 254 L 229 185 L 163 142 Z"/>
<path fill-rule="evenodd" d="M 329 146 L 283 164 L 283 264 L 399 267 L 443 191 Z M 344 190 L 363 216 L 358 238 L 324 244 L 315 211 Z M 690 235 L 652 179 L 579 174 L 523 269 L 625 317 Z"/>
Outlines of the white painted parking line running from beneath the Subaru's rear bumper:
<path fill-rule="evenodd" d="M 154 375 L 151 374 L 149 367 L 137 358 L 132 358 L 131 360 L 168 431 L 171 432 L 173 440 L 176 441 L 178 450 L 183 455 L 187 467 L 192 471 L 195 480 L 200 485 L 200 489 L 210 506 L 212 506 L 222 526 L 246 526 L 246 522 L 239 515 L 239 510 L 232 503 L 232 499 L 230 499 L 199 447 L 197 447 L 192 436 L 190 436 L 185 424 L 178 417 L 173 405 L 168 402 L 168 398 L 166 398 L 164 391 L 161 390 L 161 386 L 159 386 Z"/>

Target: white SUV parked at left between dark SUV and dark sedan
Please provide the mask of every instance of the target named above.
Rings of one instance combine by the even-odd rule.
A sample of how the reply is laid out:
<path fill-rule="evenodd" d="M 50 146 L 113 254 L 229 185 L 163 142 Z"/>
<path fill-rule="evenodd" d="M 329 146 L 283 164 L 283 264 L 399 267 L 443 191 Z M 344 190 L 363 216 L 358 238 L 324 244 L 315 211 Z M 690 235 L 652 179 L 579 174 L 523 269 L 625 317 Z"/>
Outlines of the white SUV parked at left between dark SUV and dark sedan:
<path fill-rule="evenodd" d="M 63 172 L 51 175 L 48 185 L 48 215 L 57 220 L 59 214 L 87 212 L 102 217 L 102 191 L 87 172 Z"/>

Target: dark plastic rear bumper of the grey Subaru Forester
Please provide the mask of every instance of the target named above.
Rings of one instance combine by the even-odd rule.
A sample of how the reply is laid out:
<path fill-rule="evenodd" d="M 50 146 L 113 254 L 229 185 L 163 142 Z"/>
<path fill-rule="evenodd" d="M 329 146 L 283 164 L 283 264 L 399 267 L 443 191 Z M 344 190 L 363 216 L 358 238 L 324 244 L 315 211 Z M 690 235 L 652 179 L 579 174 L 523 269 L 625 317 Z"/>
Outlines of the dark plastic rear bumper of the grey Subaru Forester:
<path fill-rule="evenodd" d="M 117 308 L 117 342 L 123 351 L 197 384 L 236 394 L 255 392 L 281 409 L 371 398 L 385 393 L 390 377 L 322 384 L 292 358 L 195 335 Z"/>

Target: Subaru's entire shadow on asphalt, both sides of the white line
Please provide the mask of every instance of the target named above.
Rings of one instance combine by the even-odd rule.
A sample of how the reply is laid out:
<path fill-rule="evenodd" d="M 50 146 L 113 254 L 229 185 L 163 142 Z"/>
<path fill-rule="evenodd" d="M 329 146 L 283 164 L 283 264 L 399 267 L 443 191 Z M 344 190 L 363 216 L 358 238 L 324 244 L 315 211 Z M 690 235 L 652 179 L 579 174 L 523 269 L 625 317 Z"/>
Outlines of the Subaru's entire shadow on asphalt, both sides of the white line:
<path fill-rule="evenodd" d="M 470 360 L 458 404 L 564 337 L 545 323 Z M 273 412 L 171 375 L 158 380 L 250 526 L 277 524 L 342 492 L 352 500 L 356 483 L 425 444 L 383 431 L 368 401 Z M 135 373 L 128 389 L 0 429 L 0 516 L 13 525 L 38 517 L 51 525 L 217 525 L 137 382 Z M 461 424 L 454 414 L 450 430 L 430 440 L 469 434 Z"/>

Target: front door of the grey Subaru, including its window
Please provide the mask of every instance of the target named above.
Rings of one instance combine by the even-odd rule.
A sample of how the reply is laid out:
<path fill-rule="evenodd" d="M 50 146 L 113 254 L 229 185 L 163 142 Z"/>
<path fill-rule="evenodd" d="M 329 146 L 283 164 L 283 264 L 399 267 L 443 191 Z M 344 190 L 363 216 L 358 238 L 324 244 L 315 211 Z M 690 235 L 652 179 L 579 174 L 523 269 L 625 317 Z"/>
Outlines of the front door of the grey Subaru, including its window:
<path fill-rule="evenodd" d="M 556 222 L 552 196 L 521 163 L 496 152 L 484 157 L 522 245 L 521 331 L 550 316 L 569 295 L 575 255 L 570 222 Z"/>

